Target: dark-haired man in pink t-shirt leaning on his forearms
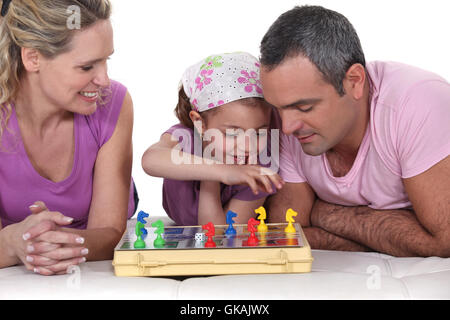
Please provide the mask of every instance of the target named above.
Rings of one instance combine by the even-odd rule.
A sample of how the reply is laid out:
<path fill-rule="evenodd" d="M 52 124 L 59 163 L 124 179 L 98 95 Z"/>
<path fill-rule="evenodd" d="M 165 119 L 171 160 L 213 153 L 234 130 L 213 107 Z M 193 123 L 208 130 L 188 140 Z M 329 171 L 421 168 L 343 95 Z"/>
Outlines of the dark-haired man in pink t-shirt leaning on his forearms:
<path fill-rule="evenodd" d="M 261 42 L 266 100 L 282 118 L 271 221 L 299 211 L 311 246 L 450 256 L 450 86 L 400 63 L 365 63 L 341 14 L 302 6 Z"/>

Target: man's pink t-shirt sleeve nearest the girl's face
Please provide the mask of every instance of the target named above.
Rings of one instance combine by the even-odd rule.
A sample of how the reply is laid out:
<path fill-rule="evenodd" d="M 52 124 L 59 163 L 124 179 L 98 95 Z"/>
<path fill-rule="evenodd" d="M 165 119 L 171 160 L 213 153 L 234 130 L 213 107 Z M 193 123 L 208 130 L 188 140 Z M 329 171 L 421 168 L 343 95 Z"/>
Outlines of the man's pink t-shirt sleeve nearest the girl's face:
<path fill-rule="evenodd" d="M 293 136 L 280 133 L 280 171 L 279 174 L 286 182 L 305 182 L 306 178 L 300 164 L 301 145 Z"/>

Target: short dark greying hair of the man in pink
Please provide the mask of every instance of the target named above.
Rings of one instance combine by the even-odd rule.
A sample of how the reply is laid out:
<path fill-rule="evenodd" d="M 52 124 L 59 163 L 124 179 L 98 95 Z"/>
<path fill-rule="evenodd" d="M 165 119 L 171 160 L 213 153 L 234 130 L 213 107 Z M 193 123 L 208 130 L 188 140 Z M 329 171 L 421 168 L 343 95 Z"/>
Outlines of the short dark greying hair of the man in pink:
<path fill-rule="evenodd" d="M 343 96 L 343 80 L 355 63 L 365 67 L 364 52 L 352 24 L 320 6 L 297 6 L 283 13 L 261 41 L 261 64 L 269 70 L 285 58 L 303 55 Z"/>

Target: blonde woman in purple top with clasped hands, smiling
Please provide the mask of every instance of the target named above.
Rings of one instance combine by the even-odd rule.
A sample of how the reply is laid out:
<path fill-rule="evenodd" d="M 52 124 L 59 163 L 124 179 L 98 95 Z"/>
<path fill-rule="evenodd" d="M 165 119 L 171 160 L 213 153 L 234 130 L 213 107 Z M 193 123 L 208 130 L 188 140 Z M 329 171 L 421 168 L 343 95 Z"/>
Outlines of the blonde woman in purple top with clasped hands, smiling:
<path fill-rule="evenodd" d="M 0 268 L 112 257 L 137 205 L 133 107 L 107 74 L 108 0 L 3 1 Z"/>

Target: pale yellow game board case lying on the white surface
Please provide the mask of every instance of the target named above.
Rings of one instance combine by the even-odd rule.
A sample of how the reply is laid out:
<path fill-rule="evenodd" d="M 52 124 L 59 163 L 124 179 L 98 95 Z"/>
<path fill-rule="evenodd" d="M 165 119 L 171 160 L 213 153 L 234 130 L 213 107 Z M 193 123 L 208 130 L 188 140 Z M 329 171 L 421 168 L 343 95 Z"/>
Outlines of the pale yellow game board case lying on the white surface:
<path fill-rule="evenodd" d="M 247 243 L 247 225 L 236 224 L 235 236 L 225 235 L 228 226 L 216 226 L 215 248 L 205 248 L 204 241 L 195 241 L 201 226 L 169 226 L 164 228 L 163 247 L 155 247 L 154 228 L 147 228 L 145 249 L 135 249 L 134 225 L 114 250 L 116 276 L 194 276 L 258 273 L 310 272 L 311 247 L 298 223 L 295 233 L 285 233 L 287 223 L 267 224 L 269 230 L 256 233 L 258 244 Z"/>

